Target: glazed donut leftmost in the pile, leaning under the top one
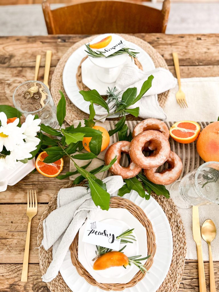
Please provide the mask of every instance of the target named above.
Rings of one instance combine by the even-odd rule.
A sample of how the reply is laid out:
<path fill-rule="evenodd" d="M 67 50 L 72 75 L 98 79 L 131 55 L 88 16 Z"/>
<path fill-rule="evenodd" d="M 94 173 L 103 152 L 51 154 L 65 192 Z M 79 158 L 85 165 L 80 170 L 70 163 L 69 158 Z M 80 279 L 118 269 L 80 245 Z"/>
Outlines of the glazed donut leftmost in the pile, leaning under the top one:
<path fill-rule="evenodd" d="M 133 161 L 127 167 L 120 165 L 121 153 L 129 154 L 130 142 L 119 141 L 107 149 L 105 153 L 105 163 L 109 164 L 110 161 L 117 156 L 117 161 L 109 168 L 109 171 L 114 175 L 121 175 L 122 178 L 133 178 L 135 175 L 140 173 L 141 167 L 134 164 Z"/>

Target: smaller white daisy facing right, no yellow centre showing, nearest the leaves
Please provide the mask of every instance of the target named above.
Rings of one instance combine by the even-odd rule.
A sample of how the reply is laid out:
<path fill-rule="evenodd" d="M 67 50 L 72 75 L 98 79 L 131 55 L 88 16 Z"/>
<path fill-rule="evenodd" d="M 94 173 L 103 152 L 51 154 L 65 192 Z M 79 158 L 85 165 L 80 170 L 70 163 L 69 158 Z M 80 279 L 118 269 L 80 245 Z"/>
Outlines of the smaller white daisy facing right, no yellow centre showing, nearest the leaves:
<path fill-rule="evenodd" d="M 39 124 L 41 123 L 41 119 L 35 119 L 32 114 L 29 114 L 25 120 L 25 123 L 22 124 L 21 128 L 23 129 L 23 133 L 25 134 L 26 142 L 33 142 L 36 145 L 39 144 L 40 139 L 35 137 L 36 133 L 40 131 Z"/>

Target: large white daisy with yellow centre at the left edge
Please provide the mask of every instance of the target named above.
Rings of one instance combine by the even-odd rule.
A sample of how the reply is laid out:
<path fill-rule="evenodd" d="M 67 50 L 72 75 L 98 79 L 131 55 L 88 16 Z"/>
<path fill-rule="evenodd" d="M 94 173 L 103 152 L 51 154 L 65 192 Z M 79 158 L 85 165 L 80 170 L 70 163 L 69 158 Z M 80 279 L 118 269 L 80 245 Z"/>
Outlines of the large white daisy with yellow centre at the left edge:
<path fill-rule="evenodd" d="M 18 127 L 19 119 L 7 124 L 6 114 L 0 112 L 0 121 L 0 152 L 3 146 L 7 151 L 12 151 L 16 144 L 24 144 L 26 136 L 23 134 L 22 128 Z"/>

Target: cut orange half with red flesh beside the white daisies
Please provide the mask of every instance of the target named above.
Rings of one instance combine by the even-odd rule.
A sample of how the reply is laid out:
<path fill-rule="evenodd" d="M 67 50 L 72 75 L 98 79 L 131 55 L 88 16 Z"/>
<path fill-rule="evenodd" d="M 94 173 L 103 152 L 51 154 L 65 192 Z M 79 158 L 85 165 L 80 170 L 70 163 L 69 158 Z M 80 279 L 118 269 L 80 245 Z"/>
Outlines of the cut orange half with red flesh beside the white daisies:
<path fill-rule="evenodd" d="M 62 171 L 64 161 L 61 158 L 53 163 L 44 163 L 43 161 L 47 156 L 48 154 L 46 151 L 43 151 L 38 155 L 35 162 L 36 170 L 48 178 L 54 178 Z"/>

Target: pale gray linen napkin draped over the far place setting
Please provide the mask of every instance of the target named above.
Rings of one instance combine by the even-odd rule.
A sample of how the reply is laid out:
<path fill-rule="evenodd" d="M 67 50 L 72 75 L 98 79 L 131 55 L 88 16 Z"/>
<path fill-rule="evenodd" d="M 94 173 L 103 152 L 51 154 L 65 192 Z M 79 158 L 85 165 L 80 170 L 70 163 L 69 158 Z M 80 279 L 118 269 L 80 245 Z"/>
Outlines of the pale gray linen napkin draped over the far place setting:
<path fill-rule="evenodd" d="M 126 91 L 129 87 L 136 87 L 137 92 L 139 93 L 142 84 L 150 75 L 154 76 L 151 88 L 138 102 L 129 108 L 139 107 L 139 117 L 143 119 L 154 118 L 166 120 L 166 114 L 159 105 L 157 95 L 174 88 L 177 84 L 177 79 L 173 77 L 173 74 L 169 70 L 159 67 L 149 72 L 143 72 L 134 64 L 134 62 L 128 63 L 124 65 L 121 73 L 119 74 L 115 87 L 117 88 L 117 91 L 122 92 Z M 107 103 L 109 106 L 109 113 L 114 112 L 114 102 L 110 101 Z M 97 120 L 108 114 L 102 106 L 95 107 L 95 112 L 95 119 Z M 105 119 L 101 119 L 101 121 L 104 122 Z"/>

